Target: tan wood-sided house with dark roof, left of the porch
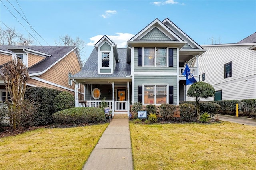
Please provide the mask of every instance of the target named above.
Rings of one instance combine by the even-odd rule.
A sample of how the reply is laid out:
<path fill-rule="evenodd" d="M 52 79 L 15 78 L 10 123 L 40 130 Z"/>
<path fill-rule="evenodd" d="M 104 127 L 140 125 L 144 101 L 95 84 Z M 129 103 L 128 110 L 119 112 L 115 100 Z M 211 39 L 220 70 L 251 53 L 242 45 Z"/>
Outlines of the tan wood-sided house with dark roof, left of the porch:
<path fill-rule="evenodd" d="M 27 86 L 48 87 L 75 94 L 75 83 L 69 79 L 82 69 L 76 46 L 0 46 L 0 65 L 19 57 L 28 67 Z M 84 87 L 78 89 L 83 98 Z M 0 78 L 0 101 L 5 101 L 4 81 Z M 9 96 L 10 97 L 10 96 Z"/>

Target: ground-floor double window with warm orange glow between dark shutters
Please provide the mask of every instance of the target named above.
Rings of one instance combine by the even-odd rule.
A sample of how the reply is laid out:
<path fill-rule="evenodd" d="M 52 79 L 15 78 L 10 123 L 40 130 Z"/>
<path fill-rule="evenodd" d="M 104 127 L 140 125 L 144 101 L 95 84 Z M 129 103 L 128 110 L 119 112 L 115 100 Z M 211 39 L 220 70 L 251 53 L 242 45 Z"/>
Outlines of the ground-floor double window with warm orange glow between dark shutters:
<path fill-rule="evenodd" d="M 167 85 L 144 85 L 144 104 L 161 105 L 167 102 Z"/>

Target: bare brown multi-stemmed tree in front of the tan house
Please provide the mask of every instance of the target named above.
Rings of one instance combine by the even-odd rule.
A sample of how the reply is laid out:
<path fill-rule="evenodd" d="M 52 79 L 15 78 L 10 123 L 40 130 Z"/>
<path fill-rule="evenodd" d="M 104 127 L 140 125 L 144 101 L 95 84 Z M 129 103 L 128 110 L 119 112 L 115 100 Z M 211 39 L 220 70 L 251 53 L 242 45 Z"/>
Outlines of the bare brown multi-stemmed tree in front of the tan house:
<path fill-rule="evenodd" d="M 23 100 L 28 81 L 28 67 L 22 63 L 21 59 L 11 59 L 4 64 L 1 69 L 1 77 L 4 80 L 6 94 L 10 94 L 12 103 L 9 105 L 10 126 L 16 129 L 18 120 L 19 103 Z M 8 98 L 6 98 L 8 100 Z"/>

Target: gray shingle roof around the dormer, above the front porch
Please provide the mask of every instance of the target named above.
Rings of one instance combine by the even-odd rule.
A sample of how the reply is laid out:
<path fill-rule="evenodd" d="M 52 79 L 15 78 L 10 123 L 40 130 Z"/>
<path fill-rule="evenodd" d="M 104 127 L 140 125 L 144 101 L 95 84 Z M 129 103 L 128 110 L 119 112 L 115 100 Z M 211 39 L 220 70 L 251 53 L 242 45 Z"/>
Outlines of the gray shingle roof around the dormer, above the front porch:
<path fill-rule="evenodd" d="M 72 78 L 113 77 L 124 78 L 131 74 L 130 64 L 126 63 L 126 48 L 118 48 L 119 63 L 116 63 L 114 74 L 98 74 L 98 52 L 94 48 L 83 69 Z"/>

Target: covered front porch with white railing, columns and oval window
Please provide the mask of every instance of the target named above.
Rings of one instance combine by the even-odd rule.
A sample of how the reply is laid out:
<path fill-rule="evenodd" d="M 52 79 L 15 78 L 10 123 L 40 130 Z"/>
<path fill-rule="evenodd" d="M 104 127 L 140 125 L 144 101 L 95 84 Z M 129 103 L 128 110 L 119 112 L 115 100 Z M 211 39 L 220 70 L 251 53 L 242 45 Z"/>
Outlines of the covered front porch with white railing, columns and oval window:
<path fill-rule="evenodd" d="M 78 100 L 77 89 L 79 83 L 84 85 L 84 99 Z M 101 107 L 106 102 L 114 114 L 127 114 L 130 112 L 131 80 L 76 80 L 76 107 Z"/>

